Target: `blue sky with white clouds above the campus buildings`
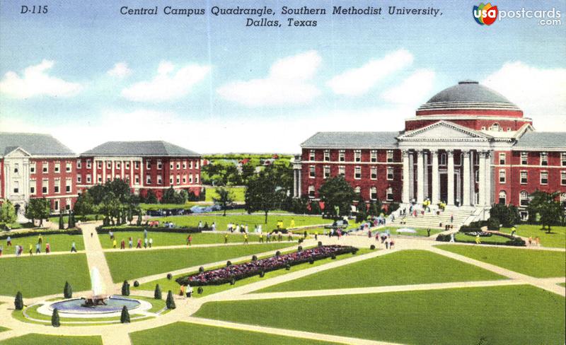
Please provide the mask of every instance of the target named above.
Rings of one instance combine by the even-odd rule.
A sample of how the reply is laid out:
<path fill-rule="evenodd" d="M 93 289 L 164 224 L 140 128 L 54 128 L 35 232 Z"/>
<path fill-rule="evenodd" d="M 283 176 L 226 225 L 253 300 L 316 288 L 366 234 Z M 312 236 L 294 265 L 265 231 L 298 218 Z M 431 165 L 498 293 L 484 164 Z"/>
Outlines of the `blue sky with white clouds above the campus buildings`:
<path fill-rule="evenodd" d="M 492 25 L 475 22 L 473 1 L 42 4 L 47 13 L 0 1 L 0 131 L 52 134 L 76 153 L 111 140 L 297 153 L 318 131 L 402 130 L 417 107 L 465 79 L 516 103 L 536 130 L 566 131 L 565 0 L 494 1 Z M 158 14 L 124 15 L 122 6 Z M 204 15 L 166 15 L 166 6 Z M 275 15 L 215 16 L 214 6 Z M 284 15 L 283 6 L 327 13 Z M 333 6 L 382 12 L 333 15 Z M 389 15 L 389 6 L 439 11 Z M 545 19 L 560 11 L 560 24 L 509 18 L 522 8 Z M 281 26 L 248 27 L 247 18 Z"/>

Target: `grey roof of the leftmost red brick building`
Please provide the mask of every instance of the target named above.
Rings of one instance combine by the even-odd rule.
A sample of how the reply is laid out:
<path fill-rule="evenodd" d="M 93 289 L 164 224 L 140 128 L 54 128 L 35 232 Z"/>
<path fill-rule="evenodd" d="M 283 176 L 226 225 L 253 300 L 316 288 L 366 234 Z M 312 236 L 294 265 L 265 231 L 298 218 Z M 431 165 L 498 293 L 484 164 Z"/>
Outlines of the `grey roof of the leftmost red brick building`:
<path fill-rule="evenodd" d="M 22 148 L 32 156 L 76 156 L 50 134 L 0 132 L 0 157 L 16 148 Z"/>

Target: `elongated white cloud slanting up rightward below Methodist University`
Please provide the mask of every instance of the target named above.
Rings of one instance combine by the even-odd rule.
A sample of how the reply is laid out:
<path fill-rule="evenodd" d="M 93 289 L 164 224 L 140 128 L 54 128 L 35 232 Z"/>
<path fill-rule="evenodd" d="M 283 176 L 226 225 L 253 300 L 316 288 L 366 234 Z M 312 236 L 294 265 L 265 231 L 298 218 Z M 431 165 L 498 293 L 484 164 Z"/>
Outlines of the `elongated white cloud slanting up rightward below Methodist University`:
<path fill-rule="evenodd" d="M 364 95 L 379 81 L 410 66 L 412 60 L 410 52 L 399 49 L 382 59 L 374 59 L 359 68 L 349 69 L 330 79 L 327 85 L 338 95 Z"/>

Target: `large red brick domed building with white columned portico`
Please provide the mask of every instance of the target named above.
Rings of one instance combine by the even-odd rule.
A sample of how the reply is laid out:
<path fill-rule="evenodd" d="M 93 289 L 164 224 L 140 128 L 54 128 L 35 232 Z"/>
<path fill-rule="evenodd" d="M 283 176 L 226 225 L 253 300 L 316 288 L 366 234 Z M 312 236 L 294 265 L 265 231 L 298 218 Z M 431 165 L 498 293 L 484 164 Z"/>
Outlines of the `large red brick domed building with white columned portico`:
<path fill-rule="evenodd" d="M 492 204 L 526 217 L 529 194 L 560 191 L 566 203 L 566 133 L 532 119 L 477 81 L 461 81 L 421 105 L 399 132 L 319 132 L 301 144 L 294 195 L 318 199 L 342 175 L 362 199 L 401 206 L 444 201 L 478 218 Z"/>

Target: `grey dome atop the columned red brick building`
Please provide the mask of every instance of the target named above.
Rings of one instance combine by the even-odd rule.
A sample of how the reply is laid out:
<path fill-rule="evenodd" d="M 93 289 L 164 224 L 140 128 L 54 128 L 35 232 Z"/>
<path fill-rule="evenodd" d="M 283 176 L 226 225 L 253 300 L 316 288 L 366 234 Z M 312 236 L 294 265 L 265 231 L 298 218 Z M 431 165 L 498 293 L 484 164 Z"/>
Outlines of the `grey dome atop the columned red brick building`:
<path fill-rule="evenodd" d="M 441 90 L 421 105 L 418 112 L 427 110 L 510 110 L 521 111 L 500 93 L 477 81 L 460 81 Z M 425 114 L 422 114 L 425 115 Z"/>

